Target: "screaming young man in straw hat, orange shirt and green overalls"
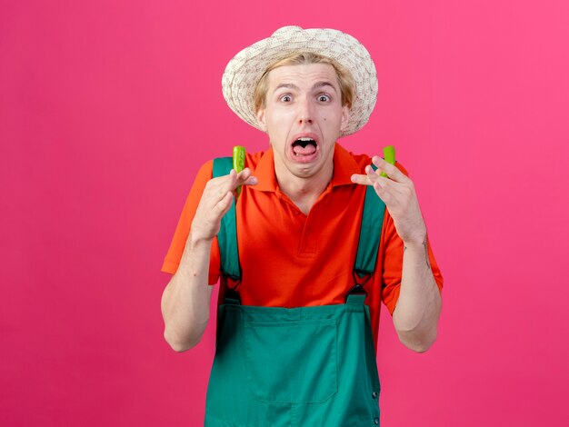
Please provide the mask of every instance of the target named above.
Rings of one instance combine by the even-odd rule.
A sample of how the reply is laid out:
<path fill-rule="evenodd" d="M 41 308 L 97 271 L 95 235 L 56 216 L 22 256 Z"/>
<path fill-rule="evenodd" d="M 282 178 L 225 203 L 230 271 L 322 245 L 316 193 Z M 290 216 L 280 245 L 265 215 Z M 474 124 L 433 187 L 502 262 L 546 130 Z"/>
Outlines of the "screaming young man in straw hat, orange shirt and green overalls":
<path fill-rule="evenodd" d="M 377 425 L 380 303 L 424 352 L 443 279 L 401 165 L 336 143 L 374 108 L 374 63 L 350 35 L 289 26 L 236 55 L 223 90 L 270 148 L 198 173 L 163 266 L 165 339 L 199 342 L 221 276 L 206 425 Z"/>

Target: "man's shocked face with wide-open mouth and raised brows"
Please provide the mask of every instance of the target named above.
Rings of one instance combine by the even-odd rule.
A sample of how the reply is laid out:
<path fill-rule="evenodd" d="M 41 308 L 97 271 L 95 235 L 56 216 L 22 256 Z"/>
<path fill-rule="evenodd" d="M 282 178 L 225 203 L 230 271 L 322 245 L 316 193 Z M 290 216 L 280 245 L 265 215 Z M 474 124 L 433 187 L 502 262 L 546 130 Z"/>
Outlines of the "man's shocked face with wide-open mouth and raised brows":
<path fill-rule="evenodd" d="M 265 108 L 257 112 L 257 120 L 269 135 L 277 177 L 330 179 L 334 144 L 348 114 L 332 65 L 285 65 L 272 70 Z"/>

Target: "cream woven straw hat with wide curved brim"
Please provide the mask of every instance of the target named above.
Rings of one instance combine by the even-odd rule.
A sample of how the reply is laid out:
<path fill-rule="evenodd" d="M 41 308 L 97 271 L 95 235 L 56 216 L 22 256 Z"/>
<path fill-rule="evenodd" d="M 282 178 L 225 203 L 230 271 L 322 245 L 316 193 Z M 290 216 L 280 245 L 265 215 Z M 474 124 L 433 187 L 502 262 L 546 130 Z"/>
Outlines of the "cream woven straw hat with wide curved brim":
<path fill-rule="evenodd" d="M 284 26 L 273 35 L 250 45 L 229 61 L 222 89 L 229 107 L 246 123 L 260 129 L 255 115 L 255 87 L 267 67 L 287 54 L 314 53 L 334 59 L 355 81 L 350 119 L 342 135 L 354 134 L 369 120 L 377 98 L 374 61 L 364 45 L 351 35 L 328 28 L 304 30 Z"/>

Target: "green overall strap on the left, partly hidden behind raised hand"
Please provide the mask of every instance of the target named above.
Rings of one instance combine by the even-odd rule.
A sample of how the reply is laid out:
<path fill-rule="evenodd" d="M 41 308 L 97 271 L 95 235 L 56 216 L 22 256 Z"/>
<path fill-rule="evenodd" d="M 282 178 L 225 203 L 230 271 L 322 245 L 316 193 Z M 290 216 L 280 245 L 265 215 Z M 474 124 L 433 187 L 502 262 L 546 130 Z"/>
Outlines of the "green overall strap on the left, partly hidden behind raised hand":
<path fill-rule="evenodd" d="M 233 169 L 232 157 L 214 159 L 214 178 L 229 174 Z M 237 249 L 237 221 L 235 216 L 235 198 L 229 211 L 221 219 L 221 228 L 217 234 L 221 258 L 221 273 L 233 281 L 241 280 L 239 251 Z"/>

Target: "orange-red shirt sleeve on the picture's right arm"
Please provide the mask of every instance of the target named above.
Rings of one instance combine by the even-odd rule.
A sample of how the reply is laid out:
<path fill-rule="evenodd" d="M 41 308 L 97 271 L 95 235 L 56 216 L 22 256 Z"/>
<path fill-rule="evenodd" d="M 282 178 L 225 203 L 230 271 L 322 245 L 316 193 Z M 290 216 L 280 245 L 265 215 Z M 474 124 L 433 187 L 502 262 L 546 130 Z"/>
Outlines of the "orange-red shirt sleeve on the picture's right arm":
<path fill-rule="evenodd" d="M 408 175 L 404 167 L 397 163 L 397 167 Z M 397 300 L 399 299 L 399 291 L 401 289 L 401 274 L 403 269 L 403 240 L 395 230 L 394 220 L 388 212 L 385 212 L 384 232 L 382 233 L 383 241 L 383 288 L 382 301 L 384 302 L 389 313 L 393 315 Z M 429 263 L 434 275 L 434 282 L 439 288 L 439 292 L 443 290 L 443 275 L 434 259 L 431 243 L 427 240 L 427 250 L 429 253 Z"/>

